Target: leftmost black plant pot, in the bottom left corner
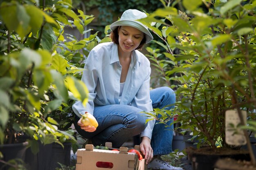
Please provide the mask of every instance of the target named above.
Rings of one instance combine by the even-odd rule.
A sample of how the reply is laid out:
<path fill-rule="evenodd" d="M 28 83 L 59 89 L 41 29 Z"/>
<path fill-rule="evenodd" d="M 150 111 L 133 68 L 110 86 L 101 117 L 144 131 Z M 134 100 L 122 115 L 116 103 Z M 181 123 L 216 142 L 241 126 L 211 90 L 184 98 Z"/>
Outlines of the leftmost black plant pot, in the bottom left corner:
<path fill-rule="evenodd" d="M 0 145 L 0 152 L 2 152 L 4 156 L 2 160 L 6 162 L 11 159 L 21 159 L 22 161 L 25 161 L 27 145 L 28 142 Z M 0 163 L 0 169 L 3 166 L 5 165 L 3 163 Z M 5 166 L 1 170 L 7 170 L 8 168 L 9 166 Z"/>

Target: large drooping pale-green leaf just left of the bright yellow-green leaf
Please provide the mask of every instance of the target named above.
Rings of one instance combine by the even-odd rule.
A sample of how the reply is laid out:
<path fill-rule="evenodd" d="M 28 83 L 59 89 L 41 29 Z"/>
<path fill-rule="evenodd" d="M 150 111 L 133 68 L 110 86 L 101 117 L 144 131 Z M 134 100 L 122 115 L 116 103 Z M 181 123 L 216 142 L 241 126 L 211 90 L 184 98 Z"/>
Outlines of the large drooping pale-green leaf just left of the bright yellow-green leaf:
<path fill-rule="evenodd" d="M 54 77 L 53 83 L 56 85 L 54 86 L 54 89 L 55 89 L 54 95 L 56 95 L 56 97 L 59 99 L 63 99 L 64 102 L 67 102 L 68 92 L 64 84 L 64 79 L 62 75 L 54 70 L 51 71 L 51 74 L 52 74 L 52 77 Z"/>

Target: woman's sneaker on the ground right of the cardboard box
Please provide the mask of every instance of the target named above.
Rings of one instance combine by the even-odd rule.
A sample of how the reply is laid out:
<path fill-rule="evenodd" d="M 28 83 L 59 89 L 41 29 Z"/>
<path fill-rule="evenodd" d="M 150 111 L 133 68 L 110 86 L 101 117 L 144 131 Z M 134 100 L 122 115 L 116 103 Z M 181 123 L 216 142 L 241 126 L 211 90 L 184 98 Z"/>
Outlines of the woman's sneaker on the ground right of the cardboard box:
<path fill-rule="evenodd" d="M 161 158 L 157 157 L 153 159 L 152 162 L 148 163 L 148 170 L 183 170 L 180 167 L 174 167 L 169 165 L 166 161 L 162 160 Z"/>

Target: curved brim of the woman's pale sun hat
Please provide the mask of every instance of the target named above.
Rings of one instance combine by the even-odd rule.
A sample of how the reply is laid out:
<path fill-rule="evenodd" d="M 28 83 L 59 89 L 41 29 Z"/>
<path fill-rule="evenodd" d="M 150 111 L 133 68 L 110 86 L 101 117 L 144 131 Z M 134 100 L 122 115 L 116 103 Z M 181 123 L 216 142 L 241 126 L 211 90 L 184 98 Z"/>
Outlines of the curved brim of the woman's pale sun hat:
<path fill-rule="evenodd" d="M 141 24 L 140 22 L 138 22 L 138 21 L 134 21 L 134 20 L 119 20 L 119 21 L 116 21 L 116 22 L 114 22 L 110 25 L 111 31 L 114 31 L 117 28 L 117 26 L 132 26 L 132 27 L 138 29 L 139 31 L 142 31 L 143 33 L 145 33 L 146 43 L 153 40 L 153 36 L 148 31 L 148 28 L 146 26 L 144 26 L 143 24 Z"/>

